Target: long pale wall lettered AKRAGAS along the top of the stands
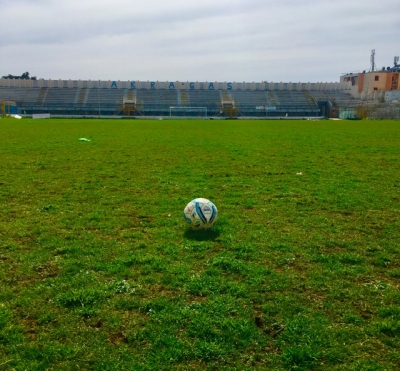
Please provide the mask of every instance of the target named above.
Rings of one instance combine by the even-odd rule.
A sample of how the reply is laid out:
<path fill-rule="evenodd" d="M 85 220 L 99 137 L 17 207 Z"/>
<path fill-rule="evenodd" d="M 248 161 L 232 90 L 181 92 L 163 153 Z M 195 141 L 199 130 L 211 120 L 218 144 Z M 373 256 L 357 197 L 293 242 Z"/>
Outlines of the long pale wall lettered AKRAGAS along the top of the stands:
<path fill-rule="evenodd" d="M 5 88 L 103 88 L 147 90 L 350 90 L 351 82 L 182 82 L 0 79 Z"/>

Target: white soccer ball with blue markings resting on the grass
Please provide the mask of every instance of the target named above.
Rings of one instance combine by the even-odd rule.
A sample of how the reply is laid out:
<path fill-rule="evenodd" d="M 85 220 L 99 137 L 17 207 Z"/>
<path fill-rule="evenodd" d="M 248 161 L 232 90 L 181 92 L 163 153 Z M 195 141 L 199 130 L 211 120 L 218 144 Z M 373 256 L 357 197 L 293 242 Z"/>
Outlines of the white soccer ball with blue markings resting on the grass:
<path fill-rule="evenodd" d="M 190 229 L 211 229 L 218 219 L 218 210 L 206 198 L 196 198 L 186 205 L 183 217 Z"/>

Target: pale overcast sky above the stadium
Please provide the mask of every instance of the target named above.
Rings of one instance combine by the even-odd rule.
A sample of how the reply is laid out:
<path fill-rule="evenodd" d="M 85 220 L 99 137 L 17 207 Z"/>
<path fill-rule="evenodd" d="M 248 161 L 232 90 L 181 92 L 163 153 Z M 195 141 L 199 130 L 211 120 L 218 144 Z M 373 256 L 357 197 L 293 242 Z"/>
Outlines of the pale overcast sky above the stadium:
<path fill-rule="evenodd" d="M 399 0 L 0 0 L 0 76 L 334 82 L 392 66 Z"/>

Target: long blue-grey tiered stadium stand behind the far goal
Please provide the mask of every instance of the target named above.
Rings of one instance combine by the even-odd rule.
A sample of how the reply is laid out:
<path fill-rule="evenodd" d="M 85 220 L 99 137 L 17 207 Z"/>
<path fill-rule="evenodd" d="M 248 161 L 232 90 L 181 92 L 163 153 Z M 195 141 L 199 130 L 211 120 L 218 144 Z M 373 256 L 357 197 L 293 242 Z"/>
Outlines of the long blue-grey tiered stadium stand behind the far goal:
<path fill-rule="evenodd" d="M 180 113 L 187 116 L 199 115 L 204 109 L 208 117 L 318 117 L 328 116 L 333 106 L 360 104 L 336 83 L 327 89 L 316 83 L 157 82 L 161 88 L 148 82 L 137 82 L 140 88 L 129 82 L 116 88 L 116 82 L 75 80 L 12 84 L 17 83 L 0 80 L 0 100 L 16 102 L 18 112 L 27 115 L 169 116 L 171 108 L 174 112 L 181 108 Z"/>

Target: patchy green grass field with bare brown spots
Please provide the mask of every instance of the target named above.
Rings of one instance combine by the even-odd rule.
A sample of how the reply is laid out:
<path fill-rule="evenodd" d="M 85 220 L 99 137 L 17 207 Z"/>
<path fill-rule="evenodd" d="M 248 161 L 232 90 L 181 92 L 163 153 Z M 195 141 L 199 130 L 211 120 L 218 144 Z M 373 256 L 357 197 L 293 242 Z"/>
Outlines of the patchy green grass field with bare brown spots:
<path fill-rule="evenodd" d="M 0 132 L 1 370 L 400 369 L 399 121 Z"/>

